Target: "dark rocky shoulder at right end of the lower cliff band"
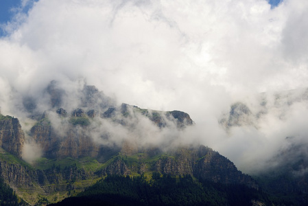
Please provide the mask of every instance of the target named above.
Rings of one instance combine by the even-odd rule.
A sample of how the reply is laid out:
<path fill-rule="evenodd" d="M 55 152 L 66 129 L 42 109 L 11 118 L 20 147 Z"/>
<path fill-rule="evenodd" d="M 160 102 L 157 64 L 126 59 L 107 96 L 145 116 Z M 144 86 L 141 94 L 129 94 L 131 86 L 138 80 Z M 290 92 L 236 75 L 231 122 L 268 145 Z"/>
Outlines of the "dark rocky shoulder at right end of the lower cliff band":
<path fill-rule="evenodd" d="M 205 146 L 178 148 L 171 156 L 159 158 L 153 170 L 162 174 L 191 174 L 215 183 L 242 183 L 257 187 L 250 176 L 242 174 L 226 157 Z"/>

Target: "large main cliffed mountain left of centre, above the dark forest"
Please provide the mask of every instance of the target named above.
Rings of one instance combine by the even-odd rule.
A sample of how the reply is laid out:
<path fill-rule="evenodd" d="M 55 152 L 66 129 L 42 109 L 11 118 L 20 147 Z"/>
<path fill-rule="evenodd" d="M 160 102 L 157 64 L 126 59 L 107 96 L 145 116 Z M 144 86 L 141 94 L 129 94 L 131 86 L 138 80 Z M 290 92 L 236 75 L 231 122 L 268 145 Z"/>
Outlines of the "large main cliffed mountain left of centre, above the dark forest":
<path fill-rule="evenodd" d="M 67 91 L 52 81 L 40 97 L 22 99 L 21 111 L 33 122 L 29 129 L 15 117 L 0 118 L 0 174 L 31 205 L 75 196 L 112 175 L 189 175 L 194 184 L 259 190 L 218 152 L 181 143 L 182 133 L 195 124 L 185 112 L 118 105 L 86 84 Z"/>

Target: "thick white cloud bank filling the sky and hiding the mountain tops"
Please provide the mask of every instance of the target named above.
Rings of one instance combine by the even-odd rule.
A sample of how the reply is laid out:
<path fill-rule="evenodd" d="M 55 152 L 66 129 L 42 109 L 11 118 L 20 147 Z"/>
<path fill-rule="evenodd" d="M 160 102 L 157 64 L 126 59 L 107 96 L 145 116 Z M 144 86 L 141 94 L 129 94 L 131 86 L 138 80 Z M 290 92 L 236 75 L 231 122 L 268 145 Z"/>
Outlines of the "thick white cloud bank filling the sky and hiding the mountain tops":
<path fill-rule="evenodd" d="M 1 26 L 1 113 L 27 130 L 29 109 L 50 109 L 52 80 L 71 108 L 95 85 L 117 106 L 189 113 L 196 124 L 180 141 L 259 171 L 308 141 L 307 10 L 305 0 L 37 1 Z"/>

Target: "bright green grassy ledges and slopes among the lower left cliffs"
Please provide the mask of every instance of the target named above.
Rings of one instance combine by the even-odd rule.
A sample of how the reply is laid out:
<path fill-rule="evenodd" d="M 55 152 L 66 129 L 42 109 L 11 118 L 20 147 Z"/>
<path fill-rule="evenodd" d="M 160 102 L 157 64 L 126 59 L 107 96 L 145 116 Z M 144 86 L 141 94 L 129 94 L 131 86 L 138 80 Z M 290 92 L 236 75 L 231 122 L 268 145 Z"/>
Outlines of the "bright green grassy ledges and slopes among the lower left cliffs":
<path fill-rule="evenodd" d="M 6 117 L 1 117 L 6 118 Z M 138 174 L 137 168 L 140 163 L 145 163 L 146 165 L 151 166 L 152 163 L 158 161 L 160 158 L 164 157 L 171 157 L 166 154 L 156 155 L 154 157 L 148 157 L 145 153 L 136 153 L 134 155 L 122 155 L 121 153 L 113 156 L 111 159 L 104 163 L 99 163 L 96 159 L 91 157 L 84 157 L 81 159 L 73 159 L 71 157 L 67 157 L 65 159 L 47 159 L 42 157 L 35 161 L 32 164 L 29 164 L 14 155 L 10 155 L 10 153 L 5 152 L 5 150 L 0 148 L 0 161 L 5 161 L 10 164 L 20 164 L 23 167 L 27 168 L 28 170 L 48 170 L 54 166 L 59 167 L 60 170 L 63 170 L 65 167 L 75 165 L 78 169 L 83 168 L 86 172 L 97 172 L 106 168 L 110 163 L 115 161 L 118 158 L 121 158 L 126 165 L 130 168 L 132 174 L 131 176 L 140 176 Z M 171 157 L 174 158 L 174 157 Z M 152 176 L 152 172 L 145 172 L 144 174 L 148 179 Z M 82 192 L 84 188 L 89 187 L 96 183 L 101 177 L 94 176 L 93 179 L 87 180 L 77 180 L 72 183 L 68 183 L 67 181 L 63 180 L 57 185 L 49 184 L 44 185 L 41 187 L 40 185 L 34 183 L 33 187 L 20 187 L 15 188 L 16 194 L 18 194 L 21 198 L 23 198 L 27 203 L 34 204 L 34 203 L 55 203 L 61 201 L 68 196 L 74 196 L 79 192 Z M 64 190 L 57 190 L 53 192 L 54 188 L 64 188 Z M 70 190 L 69 188 L 74 188 Z"/>

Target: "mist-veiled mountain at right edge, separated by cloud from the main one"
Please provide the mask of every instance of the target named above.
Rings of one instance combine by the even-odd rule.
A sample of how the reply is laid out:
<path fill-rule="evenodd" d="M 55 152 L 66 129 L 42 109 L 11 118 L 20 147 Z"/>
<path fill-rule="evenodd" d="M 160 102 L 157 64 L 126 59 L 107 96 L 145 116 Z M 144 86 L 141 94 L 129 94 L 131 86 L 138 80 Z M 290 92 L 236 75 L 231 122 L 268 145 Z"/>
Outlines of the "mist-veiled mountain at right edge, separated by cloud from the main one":
<path fill-rule="evenodd" d="M 268 134 L 262 130 L 262 124 L 268 120 L 267 118 L 271 121 L 276 118 L 276 122 L 281 122 L 280 129 L 286 134 L 281 132 L 280 137 L 271 137 L 280 140 L 277 142 L 277 148 L 272 148 L 270 152 L 263 150 L 264 153 L 273 155 L 266 157 L 263 167 L 251 175 L 265 192 L 284 201 L 286 205 L 308 204 L 308 143 L 305 133 L 307 125 L 303 113 L 305 110 L 301 109 L 307 108 L 307 94 L 308 89 L 261 93 L 254 106 L 249 104 L 251 102 L 235 102 L 230 105 L 219 121 L 228 134 L 239 128 L 254 128 L 265 137 Z M 294 113 L 291 111 L 295 111 L 298 116 L 292 117 Z M 298 111 L 303 113 L 303 119 Z M 291 122 L 288 122 L 289 119 L 292 119 Z M 277 130 L 277 127 L 274 129 Z"/>

